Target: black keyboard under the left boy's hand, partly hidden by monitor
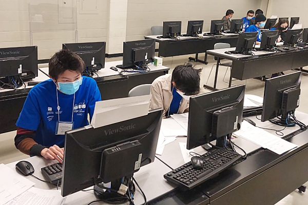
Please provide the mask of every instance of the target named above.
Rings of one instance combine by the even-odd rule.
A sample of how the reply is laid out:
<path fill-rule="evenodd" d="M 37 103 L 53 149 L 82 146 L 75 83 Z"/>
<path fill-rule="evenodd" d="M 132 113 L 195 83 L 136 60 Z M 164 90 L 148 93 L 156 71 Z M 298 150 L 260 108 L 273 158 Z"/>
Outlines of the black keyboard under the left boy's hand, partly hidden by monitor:
<path fill-rule="evenodd" d="M 61 185 L 62 163 L 55 163 L 41 169 L 43 176 L 53 185 Z M 58 183 L 59 182 L 59 183 Z"/>

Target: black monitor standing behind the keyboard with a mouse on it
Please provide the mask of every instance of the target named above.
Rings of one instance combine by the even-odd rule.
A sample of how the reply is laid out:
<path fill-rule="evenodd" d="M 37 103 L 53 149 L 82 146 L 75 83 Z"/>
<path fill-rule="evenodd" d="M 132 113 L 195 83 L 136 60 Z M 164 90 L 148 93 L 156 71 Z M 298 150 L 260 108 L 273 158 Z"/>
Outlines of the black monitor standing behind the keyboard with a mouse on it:
<path fill-rule="evenodd" d="M 210 92 L 189 99 L 187 149 L 216 140 L 223 148 L 224 136 L 240 129 L 245 85 Z"/>

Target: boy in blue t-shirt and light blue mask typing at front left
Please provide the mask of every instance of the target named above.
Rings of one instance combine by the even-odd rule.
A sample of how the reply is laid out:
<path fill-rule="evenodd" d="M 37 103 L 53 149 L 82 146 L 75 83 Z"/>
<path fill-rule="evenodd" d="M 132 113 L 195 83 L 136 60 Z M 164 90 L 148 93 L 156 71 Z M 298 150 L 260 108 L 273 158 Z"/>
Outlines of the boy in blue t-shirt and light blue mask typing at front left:
<path fill-rule="evenodd" d="M 94 79 L 82 77 L 84 61 L 69 50 L 49 61 L 51 79 L 28 93 L 16 122 L 15 146 L 24 154 L 62 162 L 64 132 L 89 125 L 101 93 Z M 86 136 L 85 136 L 86 137 Z"/>

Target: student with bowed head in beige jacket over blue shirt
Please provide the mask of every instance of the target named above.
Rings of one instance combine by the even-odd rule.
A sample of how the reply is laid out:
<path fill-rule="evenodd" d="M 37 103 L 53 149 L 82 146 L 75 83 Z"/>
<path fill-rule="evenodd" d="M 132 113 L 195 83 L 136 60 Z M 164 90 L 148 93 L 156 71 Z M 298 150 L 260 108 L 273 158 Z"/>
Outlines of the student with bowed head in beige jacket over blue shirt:
<path fill-rule="evenodd" d="M 163 118 L 188 112 L 189 97 L 200 92 L 201 71 L 187 63 L 177 66 L 172 74 L 156 78 L 150 90 L 150 110 L 163 108 Z"/>

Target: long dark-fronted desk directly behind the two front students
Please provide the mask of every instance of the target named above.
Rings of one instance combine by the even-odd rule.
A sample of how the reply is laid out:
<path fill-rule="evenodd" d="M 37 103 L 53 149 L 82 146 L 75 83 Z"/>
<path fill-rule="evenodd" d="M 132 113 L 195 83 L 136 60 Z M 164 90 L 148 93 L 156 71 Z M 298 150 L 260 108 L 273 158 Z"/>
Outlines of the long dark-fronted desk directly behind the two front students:
<path fill-rule="evenodd" d="M 120 64 L 122 64 L 122 60 L 107 62 L 105 63 L 105 68 L 98 71 L 98 77 L 94 74 L 93 78 L 97 81 L 102 100 L 127 97 L 128 92 L 133 87 L 142 84 L 151 84 L 153 80 L 168 73 L 169 70 L 165 66 L 156 67 L 148 65 L 151 71 L 147 73 L 124 73 L 123 75 L 119 75 L 119 72 L 109 69 Z M 42 68 L 41 70 L 48 74 L 48 68 Z M 40 82 L 47 79 L 49 77 L 39 71 L 38 76 L 32 79 L 32 81 Z M 16 130 L 15 123 L 24 106 L 28 92 L 32 87 L 27 85 L 25 89 L 21 87 L 16 90 L 0 90 L 0 134 Z"/>

